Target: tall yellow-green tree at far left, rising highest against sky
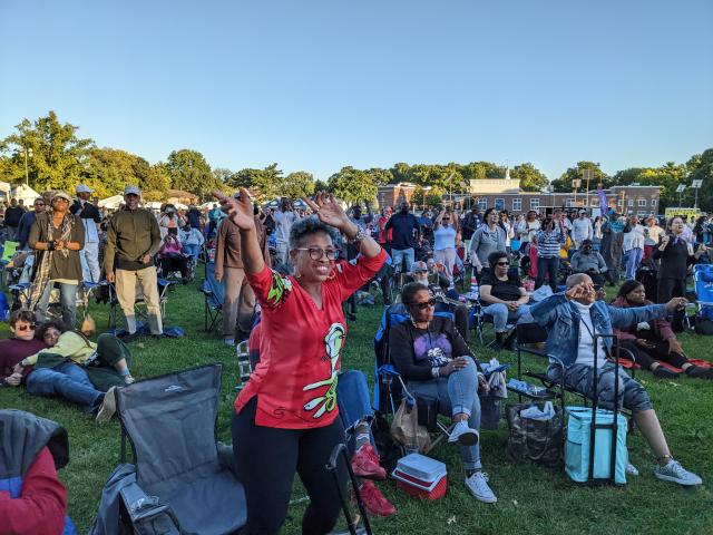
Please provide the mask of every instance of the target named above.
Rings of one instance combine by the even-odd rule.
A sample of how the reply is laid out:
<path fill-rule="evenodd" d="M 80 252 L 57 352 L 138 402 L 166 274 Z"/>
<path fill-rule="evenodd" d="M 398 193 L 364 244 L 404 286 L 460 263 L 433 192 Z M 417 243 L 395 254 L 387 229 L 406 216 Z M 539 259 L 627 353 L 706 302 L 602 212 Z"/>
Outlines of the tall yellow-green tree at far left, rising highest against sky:
<path fill-rule="evenodd" d="M 61 124 L 55 111 L 33 123 L 23 119 L 16 133 L 3 140 L 6 150 L 10 150 L 9 162 L 0 169 L 3 179 L 25 181 L 25 154 L 28 157 L 29 184 L 37 191 L 74 191 L 81 181 L 89 150 L 94 148 L 91 139 L 77 137 L 78 127 L 69 123 Z"/>

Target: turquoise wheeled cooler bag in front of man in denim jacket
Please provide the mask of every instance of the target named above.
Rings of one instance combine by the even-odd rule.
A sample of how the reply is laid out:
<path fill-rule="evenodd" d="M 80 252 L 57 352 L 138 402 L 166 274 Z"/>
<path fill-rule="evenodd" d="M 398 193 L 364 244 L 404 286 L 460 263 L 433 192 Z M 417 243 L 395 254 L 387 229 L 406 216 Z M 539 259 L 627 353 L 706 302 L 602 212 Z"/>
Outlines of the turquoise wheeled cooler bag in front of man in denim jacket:
<path fill-rule="evenodd" d="M 589 476 L 592 409 L 586 407 L 567 407 L 567 412 L 569 414 L 569 420 L 567 422 L 567 441 L 565 442 L 565 471 L 573 480 L 585 483 Z M 614 422 L 614 412 L 597 409 L 596 422 L 611 426 Z M 626 464 L 628 463 L 626 429 L 626 418 L 618 414 L 616 468 L 614 473 L 614 480 L 617 485 L 624 485 L 626 483 Z M 612 429 L 597 429 L 595 437 L 593 478 L 606 479 L 611 476 Z"/>

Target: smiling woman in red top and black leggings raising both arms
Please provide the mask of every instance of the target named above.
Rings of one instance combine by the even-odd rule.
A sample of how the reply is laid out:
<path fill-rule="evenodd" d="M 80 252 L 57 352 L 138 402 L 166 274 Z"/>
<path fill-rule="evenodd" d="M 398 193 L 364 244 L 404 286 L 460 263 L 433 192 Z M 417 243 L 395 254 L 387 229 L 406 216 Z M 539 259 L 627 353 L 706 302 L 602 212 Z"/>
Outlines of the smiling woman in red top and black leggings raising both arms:
<path fill-rule="evenodd" d="M 387 255 L 333 196 L 318 194 L 306 200 L 316 215 L 290 230 L 294 275 L 283 276 L 264 261 L 247 191 L 240 198 L 215 196 L 238 228 L 245 276 L 262 307 L 260 362 L 235 400 L 232 425 L 247 499 L 241 533 L 280 532 L 295 471 L 310 496 L 302 533 L 329 533 L 340 502 L 325 461 L 344 440 L 335 396 L 346 334 L 342 302 L 374 276 Z M 338 232 L 359 249 L 355 264 L 335 262 Z M 339 477 L 343 486 L 343 465 Z"/>

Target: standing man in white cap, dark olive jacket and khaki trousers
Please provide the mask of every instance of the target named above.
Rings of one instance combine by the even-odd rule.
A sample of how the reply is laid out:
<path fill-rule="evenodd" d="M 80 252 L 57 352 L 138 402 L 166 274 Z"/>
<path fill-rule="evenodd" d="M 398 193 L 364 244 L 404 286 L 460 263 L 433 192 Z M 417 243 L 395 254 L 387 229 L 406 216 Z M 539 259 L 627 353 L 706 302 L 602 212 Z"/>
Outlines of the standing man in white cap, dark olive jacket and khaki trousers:
<path fill-rule="evenodd" d="M 160 231 L 154 214 L 140 208 L 138 186 L 124 188 L 126 205 L 109 221 L 104 269 L 107 281 L 116 282 L 116 295 L 126 318 L 129 337 L 136 334 L 136 285 L 146 300 L 152 334 L 164 333 L 154 255 L 160 247 Z"/>

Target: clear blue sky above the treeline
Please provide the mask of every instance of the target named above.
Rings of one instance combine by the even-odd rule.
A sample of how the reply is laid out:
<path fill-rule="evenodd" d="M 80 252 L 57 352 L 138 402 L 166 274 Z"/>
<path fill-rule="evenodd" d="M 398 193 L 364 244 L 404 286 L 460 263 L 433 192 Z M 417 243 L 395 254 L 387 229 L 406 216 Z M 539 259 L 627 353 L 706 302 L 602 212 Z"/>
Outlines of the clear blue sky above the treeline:
<path fill-rule="evenodd" d="M 0 137 L 55 109 L 99 146 L 237 171 L 713 146 L 713 2 L 0 0 Z"/>

